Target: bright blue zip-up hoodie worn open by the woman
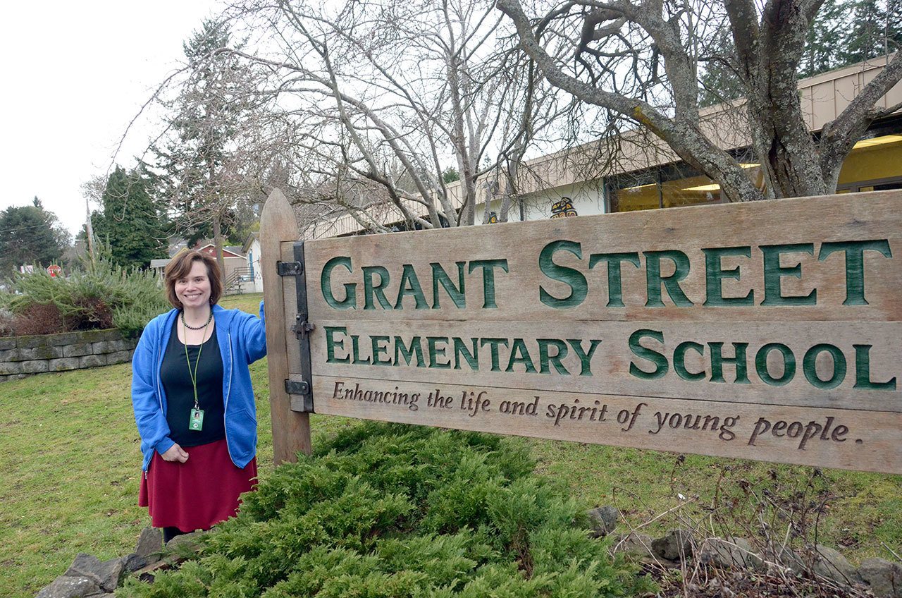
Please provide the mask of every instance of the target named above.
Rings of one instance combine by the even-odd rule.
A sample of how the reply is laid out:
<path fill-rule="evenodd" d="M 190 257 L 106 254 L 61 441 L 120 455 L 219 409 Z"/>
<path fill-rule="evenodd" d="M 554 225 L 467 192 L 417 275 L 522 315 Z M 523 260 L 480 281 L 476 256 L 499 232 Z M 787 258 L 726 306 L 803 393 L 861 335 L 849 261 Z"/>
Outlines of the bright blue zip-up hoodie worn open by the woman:
<path fill-rule="evenodd" d="M 160 381 L 160 367 L 178 313 L 179 310 L 173 309 L 153 318 L 144 328 L 132 358 L 132 405 L 141 435 L 145 472 L 154 450 L 162 454 L 175 444 L 166 423 L 166 392 Z M 243 468 L 257 453 L 257 408 L 248 366 L 266 355 L 263 304 L 260 303 L 259 318 L 219 305 L 213 306 L 213 317 L 223 359 L 226 444 L 232 463 Z"/>

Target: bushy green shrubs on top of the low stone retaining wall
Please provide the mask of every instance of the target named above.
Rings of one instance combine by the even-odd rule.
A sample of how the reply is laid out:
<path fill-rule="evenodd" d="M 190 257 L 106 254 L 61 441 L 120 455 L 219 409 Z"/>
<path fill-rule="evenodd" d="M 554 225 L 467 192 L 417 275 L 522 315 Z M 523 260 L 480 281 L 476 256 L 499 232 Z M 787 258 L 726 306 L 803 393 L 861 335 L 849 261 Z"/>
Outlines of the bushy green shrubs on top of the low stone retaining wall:
<path fill-rule="evenodd" d="M 43 271 L 16 273 L 9 292 L 0 294 L 6 334 L 48 334 L 118 328 L 137 336 L 169 304 L 151 270 L 117 266 L 109 259 L 85 263 L 66 277 Z M 42 315 L 41 315 L 42 314 Z"/>

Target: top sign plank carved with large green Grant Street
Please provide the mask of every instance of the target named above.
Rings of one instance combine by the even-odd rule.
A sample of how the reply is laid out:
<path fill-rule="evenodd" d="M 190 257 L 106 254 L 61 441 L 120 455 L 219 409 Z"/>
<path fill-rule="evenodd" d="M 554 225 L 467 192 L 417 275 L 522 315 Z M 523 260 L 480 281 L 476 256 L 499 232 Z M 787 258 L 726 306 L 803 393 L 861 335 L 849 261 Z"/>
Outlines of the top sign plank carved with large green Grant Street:
<path fill-rule="evenodd" d="M 559 245 L 552 247 L 554 242 Z M 852 244 L 849 253 L 854 255 L 849 258 L 848 272 L 846 251 L 830 243 Z M 544 266 L 545 273 L 539 266 L 543 248 L 547 249 L 550 263 L 557 265 Z M 890 251 L 897 258 L 888 257 Z M 308 285 L 316 291 L 311 291 L 308 307 L 313 319 L 336 319 L 336 313 L 345 312 L 354 319 L 396 322 L 881 322 L 898 320 L 902 313 L 902 294 L 897 292 L 902 288 L 900 255 L 900 192 L 316 239 L 307 244 L 308 271 L 315 273 L 308 276 Z M 676 260 L 684 256 L 686 271 L 677 277 L 685 278 L 670 285 L 685 298 L 678 296 L 676 290 L 669 292 L 669 287 L 654 275 L 655 270 L 663 277 L 673 275 Z M 320 274 L 335 257 L 349 260 L 347 266 L 333 263 L 327 269 L 331 295 L 343 303 L 337 308 L 328 305 L 320 291 Z M 856 268 L 852 262 L 859 257 L 861 267 Z M 484 260 L 505 262 L 502 266 Z M 765 284 L 765 260 L 770 265 L 769 285 Z M 609 274 L 611 261 L 618 265 L 611 267 L 614 274 Z M 458 276 L 463 277 L 464 307 L 457 307 L 442 285 L 434 293 L 433 263 L 454 285 L 459 285 Z M 410 274 L 407 281 L 403 280 L 405 264 L 410 265 L 415 282 L 422 289 L 423 301 L 419 305 L 412 291 L 398 300 L 401 283 L 408 288 L 413 285 Z M 798 271 L 793 272 L 796 265 Z M 364 267 L 371 270 L 364 273 Z M 380 268 L 387 273 L 387 281 L 383 281 Z M 735 268 L 738 270 L 731 272 Z M 483 276 L 488 271 L 494 280 L 497 307 L 484 307 L 487 302 Z M 720 274 L 706 276 L 714 271 Z M 610 279 L 616 272 L 620 272 L 619 297 L 610 291 L 618 286 L 616 282 L 612 285 Z M 372 280 L 373 287 L 382 283 L 384 287 L 368 293 L 364 274 Z M 566 279 L 572 285 L 563 282 Z M 867 304 L 847 304 L 847 279 L 853 287 L 863 281 Z M 583 281 L 584 287 L 580 286 Z M 356 297 L 345 304 L 350 288 L 346 285 L 354 285 L 352 292 Z M 650 297 L 650 305 L 649 289 L 655 295 Z M 557 299 L 572 294 L 572 302 L 549 306 L 541 301 L 542 290 Z M 382 306 L 380 293 L 388 309 Z M 814 304 L 804 304 L 803 298 L 809 294 Z M 654 306 L 657 295 L 660 302 Z M 440 309 L 434 308 L 436 296 Z M 743 299 L 749 304 L 737 304 Z M 794 301 L 799 304 L 791 304 Z"/>

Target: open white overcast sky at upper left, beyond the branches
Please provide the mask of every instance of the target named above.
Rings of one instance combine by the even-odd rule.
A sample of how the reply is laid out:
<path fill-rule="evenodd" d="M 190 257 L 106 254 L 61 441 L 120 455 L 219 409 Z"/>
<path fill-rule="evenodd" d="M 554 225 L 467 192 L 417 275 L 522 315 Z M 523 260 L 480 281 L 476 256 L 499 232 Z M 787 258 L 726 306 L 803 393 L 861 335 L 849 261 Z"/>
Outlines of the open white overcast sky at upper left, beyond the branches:
<path fill-rule="evenodd" d="M 81 183 L 106 175 L 129 121 L 182 58 L 181 44 L 214 0 L 7 5 L 0 23 L 0 210 L 37 195 L 73 233 L 85 221 Z M 150 135 L 129 135 L 133 166 Z"/>

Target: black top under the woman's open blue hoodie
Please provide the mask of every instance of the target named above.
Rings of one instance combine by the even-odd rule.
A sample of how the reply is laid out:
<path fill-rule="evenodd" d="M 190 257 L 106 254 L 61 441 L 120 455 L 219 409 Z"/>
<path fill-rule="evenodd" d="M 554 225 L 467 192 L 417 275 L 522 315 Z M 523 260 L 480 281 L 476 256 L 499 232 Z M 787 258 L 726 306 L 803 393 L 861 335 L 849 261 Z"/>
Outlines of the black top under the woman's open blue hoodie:
<path fill-rule="evenodd" d="M 213 443 L 226 437 L 226 406 L 223 402 L 223 359 L 216 342 L 216 329 L 203 344 L 198 365 L 198 405 L 204 411 L 200 431 L 188 429 L 191 409 L 194 408 L 194 387 L 191 385 L 185 345 L 179 341 L 179 318 L 172 324 L 169 343 L 163 353 L 160 378 L 166 391 L 166 422 L 170 426 L 172 442 L 182 447 Z M 191 371 L 198 362 L 201 345 L 188 346 Z"/>

